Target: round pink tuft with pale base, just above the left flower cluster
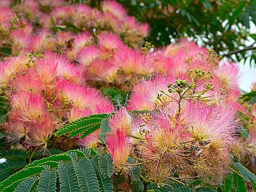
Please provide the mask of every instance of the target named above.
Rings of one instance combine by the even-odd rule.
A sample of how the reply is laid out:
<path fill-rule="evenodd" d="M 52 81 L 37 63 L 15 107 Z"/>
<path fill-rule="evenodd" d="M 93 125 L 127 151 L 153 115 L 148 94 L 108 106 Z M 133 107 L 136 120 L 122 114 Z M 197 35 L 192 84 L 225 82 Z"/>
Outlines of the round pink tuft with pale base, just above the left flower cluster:
<path fill-rule="evenodd" d="M 81 49 L 77 53 L 76 60 L 81 63 L 83 66 L 90 66 L 91 63 L 100 57 L 100 50 L 96 46 L 89 46 Z"/>

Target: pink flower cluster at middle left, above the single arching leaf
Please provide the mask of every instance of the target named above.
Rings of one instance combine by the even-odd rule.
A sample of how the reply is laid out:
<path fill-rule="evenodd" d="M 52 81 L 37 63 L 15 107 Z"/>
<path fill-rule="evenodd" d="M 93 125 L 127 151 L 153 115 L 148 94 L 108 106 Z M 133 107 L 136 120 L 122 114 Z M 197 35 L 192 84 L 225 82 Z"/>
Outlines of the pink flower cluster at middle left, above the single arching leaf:
<path fill-rule="evenodd" d="M 66 121 L 113 111 L 107 98 L 82 83 L 79 68 L 56 53 L 9 57 L 1 63 L 0 76 L 1 90 L 11 103 L 4 129 L 8 140 L 20 147 L 47 147 Z"/>

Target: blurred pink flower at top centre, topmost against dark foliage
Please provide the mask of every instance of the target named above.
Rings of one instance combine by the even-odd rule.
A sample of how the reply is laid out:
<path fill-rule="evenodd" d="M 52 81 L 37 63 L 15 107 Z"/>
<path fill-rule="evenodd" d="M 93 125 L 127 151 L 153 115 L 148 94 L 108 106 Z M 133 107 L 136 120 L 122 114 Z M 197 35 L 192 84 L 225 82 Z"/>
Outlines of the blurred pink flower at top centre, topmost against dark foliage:
<path fill-rule="evenodd" d="M 115 1 L 105 0 L 102 2 L 103 12 L 110 12 L 115 15 L 120 20 L 127 16 L 126 10 L 122 7 L 121 4 Z"/>

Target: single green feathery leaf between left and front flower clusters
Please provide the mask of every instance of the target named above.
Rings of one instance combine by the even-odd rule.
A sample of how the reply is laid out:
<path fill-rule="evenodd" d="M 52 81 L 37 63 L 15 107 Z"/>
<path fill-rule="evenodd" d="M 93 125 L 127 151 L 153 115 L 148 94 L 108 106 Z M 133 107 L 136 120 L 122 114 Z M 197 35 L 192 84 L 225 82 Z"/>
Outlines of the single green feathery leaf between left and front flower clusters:
<path fill-rule="evenodd" d="M 61 127 L 55 133 L 55 136 L 59 137 L 61 135 L 68 134 L 68 136 L 72 138 L 83 133 L 82 137 L 86 137 L 84 132 L 87 132 L 89 135 L 99 129 L 101 121 L 108 117 L 108 115 L 109 114 L 103 113 L 82 117 Z"/>

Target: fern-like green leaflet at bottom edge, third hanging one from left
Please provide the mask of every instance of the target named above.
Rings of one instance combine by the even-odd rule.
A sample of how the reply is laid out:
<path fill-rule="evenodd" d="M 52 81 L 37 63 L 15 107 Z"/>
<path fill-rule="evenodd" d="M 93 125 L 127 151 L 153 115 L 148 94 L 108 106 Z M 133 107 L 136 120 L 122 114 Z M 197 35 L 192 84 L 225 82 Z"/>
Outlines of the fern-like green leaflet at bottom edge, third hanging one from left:
<path fill-rule="evenodd" d="M 60 182 L 60 192 L 80 191 L 72 162 L 67 163 L 66 166 L 59 164 L 58 173 Z"/>

